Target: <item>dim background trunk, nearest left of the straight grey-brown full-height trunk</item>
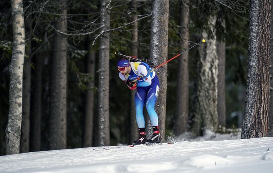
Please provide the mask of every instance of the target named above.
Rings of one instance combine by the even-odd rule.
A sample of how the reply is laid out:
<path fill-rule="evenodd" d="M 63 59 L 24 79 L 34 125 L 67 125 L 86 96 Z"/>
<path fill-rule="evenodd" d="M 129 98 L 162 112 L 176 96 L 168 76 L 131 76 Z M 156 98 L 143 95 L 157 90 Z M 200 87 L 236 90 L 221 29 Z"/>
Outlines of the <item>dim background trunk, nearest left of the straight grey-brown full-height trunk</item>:
<path fill-rule="evenodd" d="M 46 52 L 38 53 L 34 64 L 33 114 L 31 115 L 30 151 L 41 150 L 42 73 Z"/>

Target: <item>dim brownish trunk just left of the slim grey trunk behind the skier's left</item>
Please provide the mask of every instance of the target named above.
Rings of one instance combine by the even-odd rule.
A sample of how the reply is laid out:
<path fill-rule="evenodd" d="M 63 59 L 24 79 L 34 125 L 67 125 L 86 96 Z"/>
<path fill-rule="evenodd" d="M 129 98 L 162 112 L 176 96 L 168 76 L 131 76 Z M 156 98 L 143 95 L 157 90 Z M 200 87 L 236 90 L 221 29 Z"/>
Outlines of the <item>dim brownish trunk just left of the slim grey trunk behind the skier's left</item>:
<path fill-rule="evenodd" d="M 93 146 L 93 119 L 94 119 L 94 91 L 95 86 L 95 63 L 96 52 L 92 46 L 91 40 L 88 37 L 88 54 L 86 56 L 86 72 L 91 76 L 91 80 L 88 83 L 88 90 L 86 94 L 85 102 L 85 118 L 84 118 L 84 137 L 83 147 Z"/>

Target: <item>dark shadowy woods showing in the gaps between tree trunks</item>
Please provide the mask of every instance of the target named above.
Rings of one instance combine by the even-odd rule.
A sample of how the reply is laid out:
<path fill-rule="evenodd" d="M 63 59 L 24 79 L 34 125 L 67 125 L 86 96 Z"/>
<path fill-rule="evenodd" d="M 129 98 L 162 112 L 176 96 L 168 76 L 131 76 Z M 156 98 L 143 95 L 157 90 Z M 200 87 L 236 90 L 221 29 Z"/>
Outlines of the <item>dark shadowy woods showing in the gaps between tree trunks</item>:
<path fill-rule="evenodd" d="M 36 130 L 32 126 L 35 119 L 35 96 L 41 96 L 41 146 L 40 150 L 49 149 L 50 90 L 52 75 L 53 39 L 57 32 L 54 23 L 58 20 L 60 10 L 57 0 L 24 0 L 26 53 L 25 60 L 30 61 L 30 136 Z M 169 38 L 168 58 L 179 53 L 179 17 L 181 0 L 170 0 L 169 4 Z M 217 39 L 226 43 L 226 127 L 241 126 L 246 87 L 246 63 L 248 50 L 248 0 L 229 1 L 228 6 L 215 0 L 190 1 L 190 42 L 189 46 L 200 42 L 200 33 L 206 26 L 210 14 L 217 15 Z M 9 72 L 12 50 L 11 9 L 9 0 L 0 2 L 0 155 L 5 151 L 5 128 L 8 116 Z M 67 5 L 67 47 L 68 47 L 68 91 L 67 91 L 67 148 L 83 147 L 84 113 L 87 90 L 94 93 L 94 120 L 92 146 L 98 145 L 98 49 L 99 49 L 99 0 L 69 0 Z M 118 77 L 116 63 L 119 57 L 116 51 L 126 55 L 132 53 L 132 17 L 138 18 L 151 13 L 151 1 L 137 2 L 134 10 L 131 0 L 111 1 L 110 33 L 110 137 L 111 145 L 131 143 L 130 139 L 130 89 Z M 225 20 L 226 27 L 221 21 Z M 138 21 L 138 57 L 149 58 L 150 17 Z M 27 27 L 29 26 L 29 27 Z M 120 27 L 120 28 L 119 28 Z M 114 29 L 119 28 L 119 29 Z M 92 45 L 93 44 L 93 45 Z M 91 48 L 90 48 L 91 47 Z M 95 75 L 88 74 L 87 56 L 89 50 L 95 53 Z M 27 52 L 27 51 L 26 51 Z M 196 60 L 199 58 L 197 48 L 189 54 L 189 107 L 194 104 L 196 82 Z M 176 113 L 177 59 L 168 63 L 168 87 L 166 110 L 166 135 L 173 137 L 174 115 Z M 41 71 L 40 76 L 37 75 Z M 88 86 L 94 81 L 94 86 Z M 39 85 L 41 90 L 36 90 Z M 191 115 L 191 114 L 190 114 Z M 189 117 L 191 121 L 191 116 Z M 31 139 L 31 138 L 30 138 Z M 30 142 L 30 151 L 34 151 Z M 35 146 L 34 146 L 35 147 Z"/>

